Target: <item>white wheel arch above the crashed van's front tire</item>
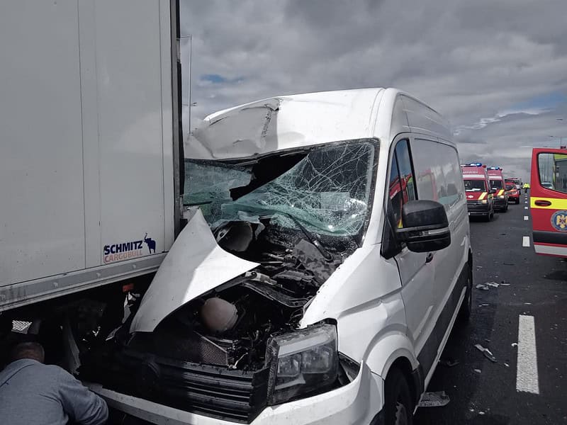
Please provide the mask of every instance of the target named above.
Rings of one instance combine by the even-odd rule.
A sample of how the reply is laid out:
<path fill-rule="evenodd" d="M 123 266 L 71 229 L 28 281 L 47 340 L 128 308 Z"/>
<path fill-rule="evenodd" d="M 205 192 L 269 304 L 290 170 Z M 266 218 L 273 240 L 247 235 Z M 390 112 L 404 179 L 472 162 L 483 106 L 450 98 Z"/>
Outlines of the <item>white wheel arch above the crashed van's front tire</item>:
<path fill-rule="evenodd" d="M 408 336 L 400 331 L 392 331 L 376 341 L 366 356 L 366 364 L 372 372 L 386 379 L 392 364 L 399 358 L 408 360 L 412 370 L 420 365 Z"/>

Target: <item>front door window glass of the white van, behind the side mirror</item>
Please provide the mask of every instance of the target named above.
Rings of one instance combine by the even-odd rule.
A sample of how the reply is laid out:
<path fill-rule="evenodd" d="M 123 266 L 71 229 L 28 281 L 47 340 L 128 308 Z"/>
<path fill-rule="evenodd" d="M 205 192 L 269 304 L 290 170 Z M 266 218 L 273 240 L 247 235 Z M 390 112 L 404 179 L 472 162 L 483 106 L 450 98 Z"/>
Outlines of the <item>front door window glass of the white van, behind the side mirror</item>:
<path fill-rule="evenodd" d="M 408 140 L 400 140 L 395 146 L 388 193 L 395 223 L 398 227 L 401 227 L 403 205 L 416 198 Z"/>

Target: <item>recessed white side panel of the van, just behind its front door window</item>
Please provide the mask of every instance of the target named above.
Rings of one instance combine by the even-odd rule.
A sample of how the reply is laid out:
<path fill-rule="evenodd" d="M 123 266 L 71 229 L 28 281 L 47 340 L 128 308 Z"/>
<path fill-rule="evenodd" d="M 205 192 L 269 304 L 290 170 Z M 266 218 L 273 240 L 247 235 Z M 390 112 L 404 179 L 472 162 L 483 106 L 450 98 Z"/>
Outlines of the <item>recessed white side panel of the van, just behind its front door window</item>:
<path fill-rule="evenodd" d="M 456 149 L 425 139 L 412 140 L 411 147 L 417 198 L 436 200 L 447 211 L 463 200 L 464 183 Z"/>

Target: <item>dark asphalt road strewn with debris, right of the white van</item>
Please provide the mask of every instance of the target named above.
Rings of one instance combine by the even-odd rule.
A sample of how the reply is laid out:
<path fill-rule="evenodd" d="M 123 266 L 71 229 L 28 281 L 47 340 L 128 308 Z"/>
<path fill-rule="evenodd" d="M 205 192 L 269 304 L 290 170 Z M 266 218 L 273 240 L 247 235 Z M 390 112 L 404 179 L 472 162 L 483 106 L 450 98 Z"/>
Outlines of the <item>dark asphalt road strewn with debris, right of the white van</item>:
<path fill-rule="evenodd" d="M 492 222 L 471 220 L 471 322 L 456 325 L 442 354 L 459 364 L 440 363 L 427 389 L 451 401 L 417 409 L 416 424 L 567 424 L 567 262 L 534 253 L 527 208 L 522 194 Z M 500 285 L 474 288 L 487 282 Z"/>

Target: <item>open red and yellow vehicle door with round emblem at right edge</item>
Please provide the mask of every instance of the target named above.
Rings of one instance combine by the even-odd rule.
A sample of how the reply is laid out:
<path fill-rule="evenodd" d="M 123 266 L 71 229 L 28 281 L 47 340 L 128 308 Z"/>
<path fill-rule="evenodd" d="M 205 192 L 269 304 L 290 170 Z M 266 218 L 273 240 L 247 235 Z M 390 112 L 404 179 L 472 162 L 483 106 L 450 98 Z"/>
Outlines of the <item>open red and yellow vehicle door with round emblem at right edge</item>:
<path fill-rule="evenodd" d="M 530 205 L 537 254 L 567 256 L 567 151 L 534 149 Z"/>

